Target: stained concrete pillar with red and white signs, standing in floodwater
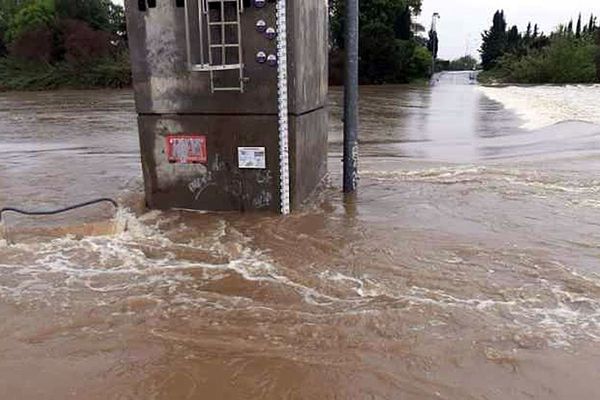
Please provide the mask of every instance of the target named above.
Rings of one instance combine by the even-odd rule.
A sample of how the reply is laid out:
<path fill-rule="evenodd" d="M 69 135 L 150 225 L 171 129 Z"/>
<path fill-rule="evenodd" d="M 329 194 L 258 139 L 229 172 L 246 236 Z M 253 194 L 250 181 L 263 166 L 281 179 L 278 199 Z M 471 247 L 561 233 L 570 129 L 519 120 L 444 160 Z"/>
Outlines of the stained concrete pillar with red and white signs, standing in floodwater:
<path fill-rule="evenodd" d="M 147 203 L 278 211 L 276 2 L 199 1 L 126 0 Z M 293 208 L 327 173 L 327 13 L 288 0 Z"/>

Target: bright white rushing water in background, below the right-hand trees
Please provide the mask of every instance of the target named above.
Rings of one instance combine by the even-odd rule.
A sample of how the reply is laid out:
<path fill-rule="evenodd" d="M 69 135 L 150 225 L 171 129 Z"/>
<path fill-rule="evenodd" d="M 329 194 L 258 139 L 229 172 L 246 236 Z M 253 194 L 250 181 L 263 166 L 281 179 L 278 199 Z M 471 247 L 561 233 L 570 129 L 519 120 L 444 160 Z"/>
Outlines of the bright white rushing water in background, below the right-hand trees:
<path fill-rule="evenodd" d="M 490 99 L 502 103 L 534 130 L 565 121 L 600 124 L 600 85 L 479 86 Z"/>

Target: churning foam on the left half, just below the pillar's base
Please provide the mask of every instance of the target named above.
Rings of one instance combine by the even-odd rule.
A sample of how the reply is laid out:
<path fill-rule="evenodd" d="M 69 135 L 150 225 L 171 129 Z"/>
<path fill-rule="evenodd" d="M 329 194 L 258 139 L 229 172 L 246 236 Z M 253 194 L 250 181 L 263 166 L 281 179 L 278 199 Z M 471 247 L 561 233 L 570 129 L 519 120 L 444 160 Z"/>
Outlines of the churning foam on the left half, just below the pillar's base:
<path fill-rule="evenodd" d="M 194 290 L 198 286 L 197 278 L 186 273 L 194 270 L 201 271 L 203 280 L 217 281 L 235 272 L 248 282 L 284 285 L 311 305 L 344 302 L 286 276 L 267 255 L 249 246 L 250 238 L 224 220 L 218 221 L 202 238 L 186 243 L 174 242 L 161 231 L 160 225 L 172 225 L 176 219 L 176 216 L 165 217 L 160 212 L 137 218 L 123 209 L 115 217 L 114 235 L 65 236 L 12 246 L 11 249 L 24 255 L 26 261 L 16 265 L 0 264 L 0 275 L 8 274 L 18 281 L 17 285 L 3 285 L 0 281 L 0 295 L 43 301 L 55 294 L 83 289 L 97 294 L 120 293 L 119 296 L 125 298 L 128 295 L 164 296 L 166 290 L 172 296 L 171 304 L 204 307 L 210 302 L 203 298 L 201 288 Z M 177 229 L 187 228 L 180 224 Z M 144 249 L 152 249 L 153 254 L 146 254 Z M 212 259 L 187 260 L 176 255 L 177 251 L 194 254 L 198 250 L 208 253 Z M 222 263 L 219 263 L 219 257 L 224 260 Z M 51 276 L 60 276 L 61 280 L 56 282 Z M 217 308 L 235 307 L 240 302 L 250 301 L 234 294 L 210 293 L 210 296 L 220 296 L 222 304 L 210 303 Z M 103 301 L 102 298 L 97 300 Z M 157 300 L 162 299 L 157 297 Z M 248 304 L 244 303 L 244 306 Z"/>

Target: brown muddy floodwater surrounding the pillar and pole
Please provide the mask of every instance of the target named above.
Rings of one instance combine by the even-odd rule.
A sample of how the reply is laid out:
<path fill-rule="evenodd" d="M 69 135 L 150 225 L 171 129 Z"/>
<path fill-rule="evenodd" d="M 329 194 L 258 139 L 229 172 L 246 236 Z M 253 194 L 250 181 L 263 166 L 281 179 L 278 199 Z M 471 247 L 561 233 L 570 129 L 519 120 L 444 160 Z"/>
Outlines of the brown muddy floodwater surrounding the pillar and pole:
<path fill-rule="evenodd" d="M 0 399 L 600 397 L 600 87 L 362 89 L 360 192 L 144 210 L 132 95 L 0 95 Z M 587 100 L 585 100 L 587 99 Z"/>

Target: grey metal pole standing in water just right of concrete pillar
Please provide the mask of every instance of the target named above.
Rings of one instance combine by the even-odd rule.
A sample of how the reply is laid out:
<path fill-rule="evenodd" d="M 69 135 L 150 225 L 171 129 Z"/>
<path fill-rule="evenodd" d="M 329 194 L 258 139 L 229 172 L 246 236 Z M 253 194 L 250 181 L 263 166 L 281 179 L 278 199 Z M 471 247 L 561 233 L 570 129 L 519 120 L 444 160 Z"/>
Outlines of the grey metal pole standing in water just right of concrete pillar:
<path fill-rule="evenodd" d="M 344 77 L 344 193 L 358 186 L 358 7 L 346 0 Z"/>

